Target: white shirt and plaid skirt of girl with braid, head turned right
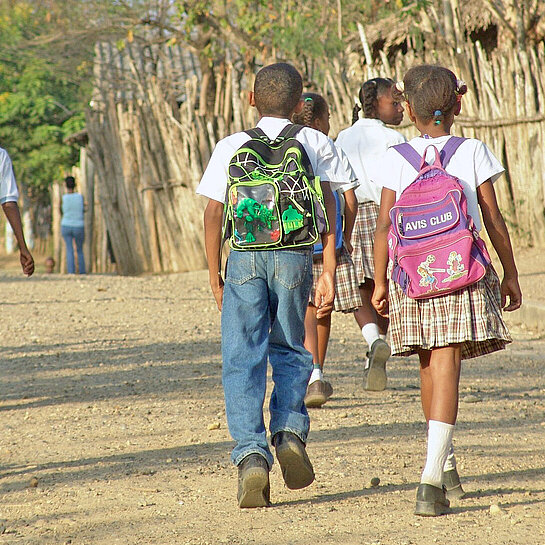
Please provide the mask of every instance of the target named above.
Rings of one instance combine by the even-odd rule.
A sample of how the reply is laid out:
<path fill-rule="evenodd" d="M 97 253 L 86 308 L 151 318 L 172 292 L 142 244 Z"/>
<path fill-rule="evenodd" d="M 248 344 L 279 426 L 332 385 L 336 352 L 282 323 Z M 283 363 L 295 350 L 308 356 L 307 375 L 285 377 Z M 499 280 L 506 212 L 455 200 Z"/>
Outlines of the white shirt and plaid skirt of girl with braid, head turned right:
<path fill-rule="evenodd" d="M 387 127 L 380 119 L 358 119 L 351 127 L 342 130 L 335 144 L 348 156 L 359 187 L 356 189 L 358 214 L 352 232 L 352 260 L 359 284 L 375 276 L 373 246 L 380 204 L 381 186 L 374 172 L 382 168 L 385 151 L 395 144 L 405 142 L 405 137 Z"/>

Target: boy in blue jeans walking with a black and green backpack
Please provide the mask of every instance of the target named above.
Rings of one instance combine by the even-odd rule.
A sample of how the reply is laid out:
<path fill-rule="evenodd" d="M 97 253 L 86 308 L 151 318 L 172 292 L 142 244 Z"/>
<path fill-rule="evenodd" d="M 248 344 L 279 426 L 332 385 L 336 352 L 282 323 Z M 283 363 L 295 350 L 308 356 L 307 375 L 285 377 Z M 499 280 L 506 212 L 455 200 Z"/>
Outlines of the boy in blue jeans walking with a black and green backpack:
<path fill-rule="evenodd" d="M 307 222 L 319 211 L 310 209 L 309 199 L 322 191 L 330 224 L 335 224 L 327 182 L 336 189 L 335 181 L 346 180 L 332 141 L 290 121 L 302 107 L 302 90 L 301 75 L 293 66 L 262 68 L 250 93 L 250 104 L 260 115 L 256 129 L 218 142 L 197 188 L 209 198 L 206 256 L 210 287 L 221 310 L 222 380 L 229 431 L 236 441 L 231 459 L 238 466 L 240 507 L 270 504 L 273 456 L 263 418 L 267 360 L 274 382 L 269 428 L 284 481 L 298 489 L 314 480 L 305 449 L 309 417 L 304 404 L 312 357 L 303 340 L 315 239 L 305 233 L 313 229 Z M 284 149 L 280 159 L 274 157 Z M 272 154 L 267 165 L 265 152 Z M 278 180 L 287 183 L 292 174 L 298 176 L 298 185 L 279 190 Z M 231 226 L 225 282 L 220 273 L 224 203 Z M 318 318 L 331 312 L 335 295 L 334 233 L 323 232 L 322 242 L 324 271 L 314 299 Z"/>

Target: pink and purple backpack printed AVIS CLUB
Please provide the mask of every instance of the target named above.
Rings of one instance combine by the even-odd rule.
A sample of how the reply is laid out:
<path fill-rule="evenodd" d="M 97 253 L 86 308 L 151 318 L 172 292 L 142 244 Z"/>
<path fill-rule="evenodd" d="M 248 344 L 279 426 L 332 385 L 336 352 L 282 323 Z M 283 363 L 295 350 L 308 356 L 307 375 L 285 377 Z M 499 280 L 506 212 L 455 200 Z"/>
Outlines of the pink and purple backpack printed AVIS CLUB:
<path fill-rule="evenodd" d="M 412 299 L 461 290 L 479 281 L 490 264 L 459 180 L 445 168 L 465 138 L 452 136 L 441 154 L 424 156 L 407 143 L 393 146 L 418 171 L 390 211 L 388 252 L 392 280 Z M 435 161 L 426 163 L 426 152 Z"/>

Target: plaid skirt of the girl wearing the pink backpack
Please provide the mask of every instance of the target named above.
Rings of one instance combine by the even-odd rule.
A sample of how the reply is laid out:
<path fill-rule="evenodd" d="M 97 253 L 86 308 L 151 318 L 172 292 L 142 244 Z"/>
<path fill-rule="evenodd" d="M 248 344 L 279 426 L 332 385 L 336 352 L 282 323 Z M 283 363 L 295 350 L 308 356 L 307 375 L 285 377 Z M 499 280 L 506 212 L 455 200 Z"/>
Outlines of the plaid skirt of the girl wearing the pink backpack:
<path fill-rule="evenodd" d="M 470 359 L 512 342 L 501 316 L 500 281 L 492 265 L 479 282 L 431 299 L 411 299 L 390 281 L 389 304 L 395 356 L 460 343 L 462 359 Z"/>

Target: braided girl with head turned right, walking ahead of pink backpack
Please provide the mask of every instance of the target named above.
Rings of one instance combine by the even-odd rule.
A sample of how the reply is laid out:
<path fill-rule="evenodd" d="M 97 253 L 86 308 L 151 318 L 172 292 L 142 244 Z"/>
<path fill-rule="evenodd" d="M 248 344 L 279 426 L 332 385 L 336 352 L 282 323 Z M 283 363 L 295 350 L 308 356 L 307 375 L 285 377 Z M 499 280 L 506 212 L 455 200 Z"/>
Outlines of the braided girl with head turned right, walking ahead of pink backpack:
<path fill-rule="evenodd" d="M 385 125 L 399 125 L 403 120 L 403 106 L 392 96 L 393 85 L 394 81 L 387 78 L 366 81 L 359 92 L 362 107 L 354 107 L 352 126 L 341 131 L 336 140 L 337 146 L 348 156 L 360 183 L 356 189 L 358 213 L 352 233 L 352 259 L 362 305 L 354 312 L 354 317 L 369 346 L 363 387 L 375 391 L 386 388 L 390 347 L 386 343 L 388 319 L 377 315 L 371 304 L 375 273 L 373 244 L 380 203 L 380 187 L 374 183 L 373 173 L 383 167 L 383 156 L 390 146 L 405 142 L 402 134 Z M 358 119 L 360 109 L 363 109 L 363 119 Z"/>

